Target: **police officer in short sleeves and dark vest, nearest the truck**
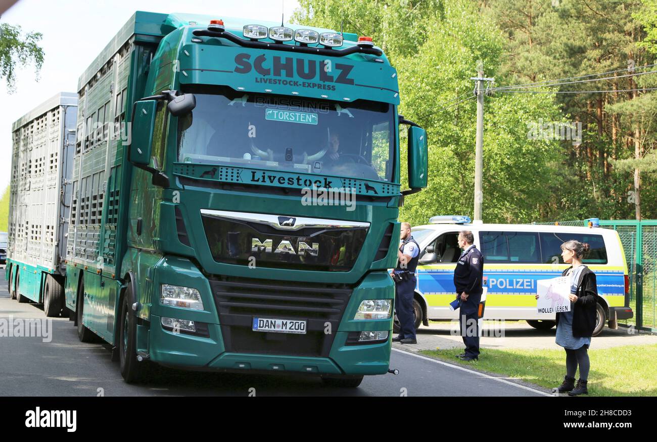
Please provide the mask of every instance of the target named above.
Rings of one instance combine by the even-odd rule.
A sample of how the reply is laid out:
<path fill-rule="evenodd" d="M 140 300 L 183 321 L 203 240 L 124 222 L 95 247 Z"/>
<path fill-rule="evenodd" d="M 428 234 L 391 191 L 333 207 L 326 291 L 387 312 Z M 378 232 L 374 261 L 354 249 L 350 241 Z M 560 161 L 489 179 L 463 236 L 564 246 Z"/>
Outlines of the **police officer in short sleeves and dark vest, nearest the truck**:
<path fill-rule="evenodd" d="M 411 224 L 401 223 L 399 239 L 402 243 L 397 252 L 397 267 L 390 275 L 395 281 L 395 310 L 399 319 L 399 334 L 392 338 L 401 344 L 417 344 L 415 319 L 413 318 L 413 294 L 415 293 L 415 268 L 420 246 L 411 235 Z"/>

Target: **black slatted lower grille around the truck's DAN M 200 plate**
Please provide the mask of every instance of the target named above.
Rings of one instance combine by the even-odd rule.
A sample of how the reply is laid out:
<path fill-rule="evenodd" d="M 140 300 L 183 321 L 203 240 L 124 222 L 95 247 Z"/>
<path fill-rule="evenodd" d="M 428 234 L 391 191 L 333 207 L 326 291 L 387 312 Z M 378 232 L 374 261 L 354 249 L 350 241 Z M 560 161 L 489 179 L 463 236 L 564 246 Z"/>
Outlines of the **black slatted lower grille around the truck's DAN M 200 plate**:
<path fill-rule="evenodd" d="M 211 280 L 227 352 L 328 357 L 352 288 L 224 277 Z M 254 317 L 305 319 L 306 334 L 252 331 Z M 330 333 L 327 323 L 330 323 Z"/>

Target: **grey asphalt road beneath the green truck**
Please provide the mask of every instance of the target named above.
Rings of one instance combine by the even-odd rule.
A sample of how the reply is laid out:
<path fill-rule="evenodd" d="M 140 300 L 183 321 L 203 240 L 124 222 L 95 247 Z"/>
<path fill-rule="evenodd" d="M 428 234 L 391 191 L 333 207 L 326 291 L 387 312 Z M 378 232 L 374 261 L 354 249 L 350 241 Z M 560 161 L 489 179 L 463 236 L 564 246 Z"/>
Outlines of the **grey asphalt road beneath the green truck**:
<path fill-rule="evenodd" d="M 43 305 L 9 299 L 0 268 L 0 317 L 45 318 Z M 0 395 L 19 396 L 537 396 L 535 390 L 506 378 L 493 378 L 462 367 L 399 350 L 392 352 L 397 376 L 366 376 L 359 388 L 323 386 L 305 376 L 247 375 L 178 371 L 158 367 L 140 385 L 126 384 L 107 346 L 79 342 L 66 318 L 52 319 L 51 340 L 0 336 Z"/>

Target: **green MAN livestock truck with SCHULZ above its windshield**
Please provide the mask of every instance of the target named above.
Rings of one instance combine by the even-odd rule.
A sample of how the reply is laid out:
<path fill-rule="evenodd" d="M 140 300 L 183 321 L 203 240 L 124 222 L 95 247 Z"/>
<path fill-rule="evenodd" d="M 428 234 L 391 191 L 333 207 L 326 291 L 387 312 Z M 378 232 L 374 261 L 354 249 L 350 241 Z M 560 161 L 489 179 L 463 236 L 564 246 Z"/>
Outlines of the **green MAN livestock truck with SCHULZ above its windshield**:
<path fill-rule="evenodd" d="M 398 90 L 369 37 L 136 12 L 79 78 L 65 270 L 9 256 L 10 291 L 61 284 L 49 302 L 127 382 L 152 363 L 338 386 L 388 372 L 397 216 L 427 182 Z"/>

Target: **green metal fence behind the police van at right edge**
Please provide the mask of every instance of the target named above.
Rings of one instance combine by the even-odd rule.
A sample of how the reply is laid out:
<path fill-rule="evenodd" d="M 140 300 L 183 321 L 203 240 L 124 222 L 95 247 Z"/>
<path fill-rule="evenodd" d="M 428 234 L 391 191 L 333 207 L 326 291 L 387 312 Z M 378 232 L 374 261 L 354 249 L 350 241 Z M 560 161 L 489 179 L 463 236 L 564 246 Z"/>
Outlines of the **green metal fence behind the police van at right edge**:
<path fill-rule="evenodd" d="M 559 221 L 558 224 L 587 226 L 588 221 Z M 620 322 L 657 332 L 657 220 L 600 220 L 600 227 L 618 232 L 627 260 L 629 306 L 634 317 Z"/>

